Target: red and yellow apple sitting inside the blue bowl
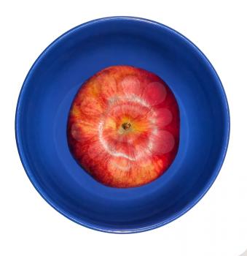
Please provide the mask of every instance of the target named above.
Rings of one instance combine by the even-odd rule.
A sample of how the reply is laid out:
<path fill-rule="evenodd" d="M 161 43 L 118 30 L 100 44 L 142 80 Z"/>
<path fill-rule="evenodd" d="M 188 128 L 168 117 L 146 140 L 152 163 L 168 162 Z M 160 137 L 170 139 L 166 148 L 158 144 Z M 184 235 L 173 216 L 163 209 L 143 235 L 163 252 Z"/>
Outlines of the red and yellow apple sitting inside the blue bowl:
<path fill-rule="evenodd" d="M 79 89 L 68 116 L 71 154 L 109 187 L 148 184 L 179 148 L 179 107 L 157 75 L 130 66 L 101 70 Z"/>

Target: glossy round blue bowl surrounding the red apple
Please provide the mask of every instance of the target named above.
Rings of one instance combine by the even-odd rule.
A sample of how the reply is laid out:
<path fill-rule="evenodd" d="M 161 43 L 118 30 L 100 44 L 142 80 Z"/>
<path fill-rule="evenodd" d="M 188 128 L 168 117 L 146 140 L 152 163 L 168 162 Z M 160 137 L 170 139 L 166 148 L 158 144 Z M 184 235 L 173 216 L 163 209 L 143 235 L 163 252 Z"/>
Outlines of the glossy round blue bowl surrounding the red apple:
<path fill-rule="evenodd" d="M 159 75 L 181 115 L 173 164 L 157 180 L 130 189 L 95 181 L 72 157 L 66 138 L 79 87 L 119 64 Z M 224 161 L 230 114 L 216 71 L 186 37 L 151 20 L 113 17 L 77 26 L 44 50 L 20 91 L 15 131 L 26 173 L 47 203 L 85 227 L 135 233 L 173 221 L 205 195 Z"/>

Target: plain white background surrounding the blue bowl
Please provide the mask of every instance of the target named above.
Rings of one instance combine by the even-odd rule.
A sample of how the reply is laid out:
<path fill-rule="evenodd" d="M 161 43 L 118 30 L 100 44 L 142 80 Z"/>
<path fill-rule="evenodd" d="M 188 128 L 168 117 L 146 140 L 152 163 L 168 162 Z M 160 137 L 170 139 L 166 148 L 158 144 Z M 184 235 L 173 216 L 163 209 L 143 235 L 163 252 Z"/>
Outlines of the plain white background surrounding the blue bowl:
<path fill-rule="evenodd" d="M 1 1 L 0 255 L 239 256 L 247 247 L 247 16 L 245 1 Z M 28 69 L 60 34 L 95 18 L 130 15 L 192 40 L 221 78 L 230 104 L 227 158 L 213 187 L 175 222 L 114 235 L 81 227 L 36 192 L 15 145 L 15 107 Z"/>

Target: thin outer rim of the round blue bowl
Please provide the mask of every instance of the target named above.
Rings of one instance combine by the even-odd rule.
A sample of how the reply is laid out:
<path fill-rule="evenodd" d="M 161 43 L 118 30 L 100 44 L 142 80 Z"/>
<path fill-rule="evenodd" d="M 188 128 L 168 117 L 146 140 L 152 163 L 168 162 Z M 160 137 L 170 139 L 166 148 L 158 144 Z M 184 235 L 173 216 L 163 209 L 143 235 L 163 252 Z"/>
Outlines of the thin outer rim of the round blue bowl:
<path fill-rule="evenodd" d="M 225 125 L 226 125 L 226 132 L 224 134 L 224 143 L 223 143 L 224 146 L 221 148 L 221 154 L 216 163 L 216 167 L 214 168 L 213 175 L 208 180 L 208 182 L 205 184 L 205 186 L 202 189 L 200 189 L 200 192 L 195 196 L 195 198 L 193 200 L 191 200 L 186 207 L 182 208 L 176 214 L 173 214 L 173 216 L 171 216 L 167 219 L 164 219 L 161 222 L 157 222 L 154 225 L 147 225 L 145 227 L 126 229 L 126 230 L 114 229 L 114 228 L 109 228 L 109 227 L 106 228 L 101 225 L 93 225 L 90 222 L 86 222 L 86 221 L 77 219 L 77 217 L 74 217 L 73 214 L 70 214 L 68 211 L 65 211 L 62 207 L 60 207 L 60 205 L 58 205 L 58 203 L 56 203 L 54 200 L 52 200 L 52 198 L 50 198 L 50 196 L 47 195 L 47 193 L 44 191 L 44 189 L 42 189 L 42 187 L 39 186 L 39 182 L 36 181 L 34 175 L 32 174 L 31 167 L 29 167 L 29 165 L 28 165 L 28 159 L 25 155 L 25 151 L 24 151 L 22 143 L 21 143 L 21 134 L 20 134 L 20 108 L 23 104 L 23 95 L 26 93 L 26 87 L 28 85 L 28 80 L 31 77 L 31 75 L 35 72 L 37 65 L 39 65 L 39 61 L 41 61 L 46 56 L 46 53 L 48 50 L 50 50 L 51 48 L 54 48 L 55 45 L 58 42 L 60 42 L 60 40 L 63 40 L 66 36 L 68 36 L 68 34 L 74 33 L 74 31 L 77 31 L 77 29 L 82 29 L 89 25 L 97 25 L 98 23 L 103 23 L 103 22 L 109 21 L 109 20 L 112 20 L 113 22 L 114 22 L 114 20 L 117 20 L 117 21 L 132 20 L 132 21 L 139 21 L 139 22 L 143 22 L 143 23 L 149 23 L 149 24 L 152 24 L 152 26 L 158 26 L 158 27 L 161 27 L 162 29 L 170 31 L 171 33 L 179 36 L 180 39 L 183 40 L 184 42 L 187 42 L 189 44 L 189 46 L 191 46 L 195 50 L 195 53 L 197 53 L 197 55 L 199 55 L 203 59 L 204 64 L 210 69 L 211 75 L 213 75 L 213 77 L 216 79 L 216 83 L 219 87 L 220 97 L 223 102 L 222 107 L 224 108 Z M 227 154 L 227 148 L 228 148 L 229 140 L 230 140 L 230 110 L 229 110 L 229 105 L 227 102 L 227 96 L 225 94 L 224 87 L 222 86 L 219 75 L 216 73 L 216 70 L 213 68 L 213 65 L 207 59 L 207 57 L 204 55 L 204 53 L 199 48 L 197 48 L 197 46 L 193 42 L 191 42 L 189 39 L 187 39 L 187 37 L 184 37 L 184 35 L 180 34 L 178 31 L 176 31 L 174 29 L 171 29 L 169 26 L 166 26 L 162 23 L 158 23 L 156 21 L 149 20 L 146 18 L 138 18 L 138 17 L 131 17 L 131 16 L 111 16 L 111 17 L 90 20 L 86 23 L 80 24 L 79 26 L 75 26 L 73 29 L 66 31 L 64 34 L 60 35 L 60 37 L 55 39 L 50 45 L 48 45 L 47 48 L 45 48 L 43 50 L 43 52 L 39 55 L 39 57 L 36 59 L 36 61 L 34 61 L 34 64 L 31 66 L 31 69 L 28 71 L 28 74 L 26 75 L 26 78 L 23 82 L 23 86 L 20 89 L 19 97 L 17 99 L 17 106 L 16 106 L 16 111 L 15 111 L 15 140 L 16 140 L 17 150 L 18 150 L 18 153 L 20 156 L 20 160 L 21 160 L 24 170 L 26 171 L 26 174 L 27 174 L 29 180 L 31 181 L 31 183 L 33 184 L 34 188 L 36 189 L 37 192 L 39 192 L 39 195 L 41 195 L 44 198 L 44 200 L 46 200 L 46 202 L 50 204 L 50 206 L 52 206 L 52 208 L 55 208 L 55 210 L 58 211 L 60 214 L 62 214 L 64 217 L 71 219 L 73 222 L 76 222 L 79 225 L 88 227 L 93 230 L 98 230 L 101 232 L 140 233 L 140 232 L 144 232 L 144 231 L 148 231 L 148 230 L 153 230 L 157 227 L 162 227 L 163 225 L 167 225 L 168 223 L 173 222 L 173 220 L 178 219 L 182 215 L 186 214 L 187 211 L 189 211 L 193 206 L 195 206 L 202 199 L 202 197 L 208 192 L 208 189 L 211 188 L 213 182 L 216 180 L 216 177 L 219 175 L 219 171 L 221 170 L 221 166 L 223 165 L 224 159 Z"/>

